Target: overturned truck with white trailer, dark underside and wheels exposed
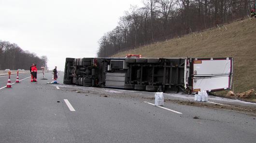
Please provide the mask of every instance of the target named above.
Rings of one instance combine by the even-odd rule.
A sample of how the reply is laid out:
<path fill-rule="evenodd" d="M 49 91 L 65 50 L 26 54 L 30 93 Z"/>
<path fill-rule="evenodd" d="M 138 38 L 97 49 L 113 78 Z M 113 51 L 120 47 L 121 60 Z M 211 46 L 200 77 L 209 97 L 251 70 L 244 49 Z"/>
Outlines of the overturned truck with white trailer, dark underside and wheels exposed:
<path fill-rule="evenodd" d="M 66 58 L 64 84 L 196 93 L 231 88 L 233 58 Z"/>

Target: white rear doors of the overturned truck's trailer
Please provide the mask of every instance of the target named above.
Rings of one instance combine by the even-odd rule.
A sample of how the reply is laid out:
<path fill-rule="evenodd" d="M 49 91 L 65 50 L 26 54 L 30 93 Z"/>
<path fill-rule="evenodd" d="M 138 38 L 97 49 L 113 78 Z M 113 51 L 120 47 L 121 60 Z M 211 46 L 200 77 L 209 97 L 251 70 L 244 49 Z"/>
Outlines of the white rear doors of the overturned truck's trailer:
<path fill-rule="evenodd" d="M 220 91 L 231 89 L 232 58 L 193 59 L 192 91 Z"/>

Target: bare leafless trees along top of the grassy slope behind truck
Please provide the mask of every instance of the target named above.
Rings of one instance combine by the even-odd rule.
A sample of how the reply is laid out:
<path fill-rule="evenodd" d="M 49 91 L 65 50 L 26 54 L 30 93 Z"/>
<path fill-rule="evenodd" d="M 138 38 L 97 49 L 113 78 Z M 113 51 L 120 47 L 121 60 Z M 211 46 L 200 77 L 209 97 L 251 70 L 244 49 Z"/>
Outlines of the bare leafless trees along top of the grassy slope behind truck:
<path fill-rule="evenodd" d="M 99 40 L 98 57 L 199 32 L 244 18 L 256 0 L 144 0 L 131 6 Z"/>

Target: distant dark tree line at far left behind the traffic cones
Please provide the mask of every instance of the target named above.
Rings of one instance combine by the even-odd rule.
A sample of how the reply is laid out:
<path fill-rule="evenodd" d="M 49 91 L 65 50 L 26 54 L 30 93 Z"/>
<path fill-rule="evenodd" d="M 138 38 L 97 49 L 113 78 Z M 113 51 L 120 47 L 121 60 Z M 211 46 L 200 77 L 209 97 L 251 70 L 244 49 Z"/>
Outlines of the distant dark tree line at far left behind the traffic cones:
<path fill-rule="evenodd" d="M 47 66 L 47 57 L 38 57 L 35 53 L 22 50 L 17 44 L 0 40 L 0 70 L 29 70 L 32 63 Z"/>

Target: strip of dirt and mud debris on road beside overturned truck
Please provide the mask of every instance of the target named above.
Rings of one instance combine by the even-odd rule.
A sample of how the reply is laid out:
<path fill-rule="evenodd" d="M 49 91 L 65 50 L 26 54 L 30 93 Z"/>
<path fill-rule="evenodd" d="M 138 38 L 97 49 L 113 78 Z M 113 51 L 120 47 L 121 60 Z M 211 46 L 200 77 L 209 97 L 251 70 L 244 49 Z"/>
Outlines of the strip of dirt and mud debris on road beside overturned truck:
<path fill-rule="evenodd" d="M 122 98 L 122 99 L 132 99 L 132 100 L 139 100 L 143 101 L 154 101 L 154 93 L 152 92 L 142 92 L 142 91 L 131 91 L 131 90 L 120 90 L 120 89 L 106 89 L 106 88 L 94 88 L 94 87 L 81 87 L 81 86 L 72 86 L 72 85 L 64 85 L 59 87 L 62 91 L 65 92 L 76 92 L 79 95 L 96 95 L 101 97 L 111 97 L 111 98 Z M 177 94 L 178 96 L 179 94 Z M 164 94 L 164 102 L 165 103 L 172 103 L 172 104 L 180 104 L 180 105 L 187 105 L 187 106 L 195 106 L 195 107 L 207 107 L 207 108 L 214 108 L 214 109 L 225 109 L 230 111 L 241 112 L 249 115 L 256 116 L 256 104 L 252 106 L 244 106 L 244 105 L 234 105 L 234 104 L 222 104 L 217 102 L 197 102 L 193 99 L 177 99 L 171 96 Z M 253 104 L 253 103 L 251 103 Z"/>

